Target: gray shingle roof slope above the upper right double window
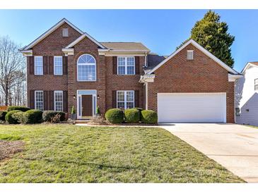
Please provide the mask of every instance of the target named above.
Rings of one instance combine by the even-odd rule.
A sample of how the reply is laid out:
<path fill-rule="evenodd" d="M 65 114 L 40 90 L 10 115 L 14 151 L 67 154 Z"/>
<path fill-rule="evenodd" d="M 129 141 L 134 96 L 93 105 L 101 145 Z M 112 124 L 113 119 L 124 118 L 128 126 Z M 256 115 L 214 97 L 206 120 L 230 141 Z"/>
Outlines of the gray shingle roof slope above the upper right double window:
<path fill-rule="evenodd" d="M 100 42 L 107 49 L 150 51 L 140 42 Z"/>

